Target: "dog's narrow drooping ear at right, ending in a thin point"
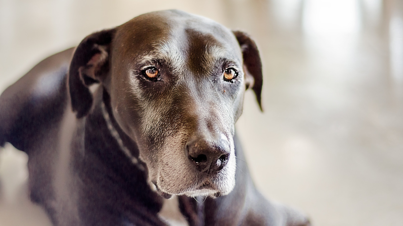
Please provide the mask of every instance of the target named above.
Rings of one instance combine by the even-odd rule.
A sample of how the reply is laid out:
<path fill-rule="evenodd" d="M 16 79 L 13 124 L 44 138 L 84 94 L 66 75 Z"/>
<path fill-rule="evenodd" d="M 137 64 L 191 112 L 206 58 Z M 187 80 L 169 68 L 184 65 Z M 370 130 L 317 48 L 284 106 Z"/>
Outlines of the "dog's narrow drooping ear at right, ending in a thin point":
<path fill-rule="evenodd" d="M 262 61 L 260 60 L 258 47 L 247 33 L 242 31 L 233 31 L 233 33 L 241 46 L 246 88 L 253 89 L 260 110 L 263 111 L 261 102 L 263 84 Z"/>

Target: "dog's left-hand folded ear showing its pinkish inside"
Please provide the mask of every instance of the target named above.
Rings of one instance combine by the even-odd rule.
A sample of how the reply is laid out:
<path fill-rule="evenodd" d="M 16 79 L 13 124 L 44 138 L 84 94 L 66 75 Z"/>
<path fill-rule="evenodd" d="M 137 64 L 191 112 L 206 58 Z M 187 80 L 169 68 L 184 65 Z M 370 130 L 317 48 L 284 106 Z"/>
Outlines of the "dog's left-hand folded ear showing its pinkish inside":
<path fill-rule="evenodd" d="M 88 86 L 102 82 L 109 71 L 110 43 L 115 29 L 103 30 L 88 35 L 77 46 L 69 69 L 71 106 L 77 118 L 88 113 L 92 95 Z"/>

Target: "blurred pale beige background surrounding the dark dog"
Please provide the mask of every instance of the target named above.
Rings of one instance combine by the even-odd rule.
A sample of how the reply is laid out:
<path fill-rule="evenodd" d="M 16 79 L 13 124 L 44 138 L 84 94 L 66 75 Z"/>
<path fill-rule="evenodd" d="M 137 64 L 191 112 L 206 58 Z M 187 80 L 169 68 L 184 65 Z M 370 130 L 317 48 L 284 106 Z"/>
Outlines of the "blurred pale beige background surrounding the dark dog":
<path fill-rule="evenodd" d="M 317 226 L 403 222 L 403 1 L 0 0 L 0 92 L 47 56 L 177 8 L 247 31 L 264 66 L 237 131 L 256 186 Z M 49 226 L 27 156 L 0 149 L 0 225 Z"/>

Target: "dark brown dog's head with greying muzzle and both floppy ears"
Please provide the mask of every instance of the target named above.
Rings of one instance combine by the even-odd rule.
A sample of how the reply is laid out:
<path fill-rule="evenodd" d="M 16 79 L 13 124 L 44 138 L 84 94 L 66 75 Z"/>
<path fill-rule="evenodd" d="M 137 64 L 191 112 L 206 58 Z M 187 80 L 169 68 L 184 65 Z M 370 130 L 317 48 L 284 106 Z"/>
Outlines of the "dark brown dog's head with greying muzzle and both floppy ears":
<path fill-rule="evenodd" d="M 77 117 L 91 109 L 94 82 L 108 92 L 113 117 L 162 193 L 231 192 L 243 94 L 252 88 L 260 105 L 262 90 L 249 36 L 177 10 L 143 14 L 77 47 L 69 71 Z"/>

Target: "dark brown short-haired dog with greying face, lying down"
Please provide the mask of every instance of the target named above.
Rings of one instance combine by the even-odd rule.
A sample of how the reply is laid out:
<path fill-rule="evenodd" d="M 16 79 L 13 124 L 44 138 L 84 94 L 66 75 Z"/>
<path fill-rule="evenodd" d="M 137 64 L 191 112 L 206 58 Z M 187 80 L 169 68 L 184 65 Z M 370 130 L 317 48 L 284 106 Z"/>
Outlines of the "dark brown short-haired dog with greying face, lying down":
<path fill-rule="evenodd" d="M 261 108 L 246 33 L 150 12 L 8 87 L 0 145 L 28 154 L 30 198 L 55 226 L 310 225 L 253 185 L 235 133 L 247 89 Z"/>

